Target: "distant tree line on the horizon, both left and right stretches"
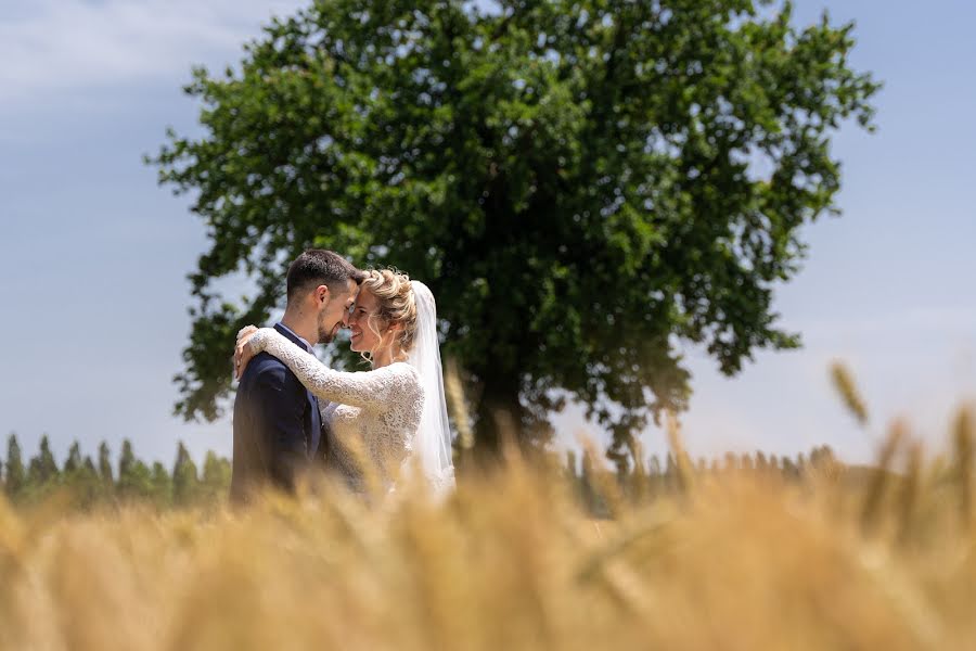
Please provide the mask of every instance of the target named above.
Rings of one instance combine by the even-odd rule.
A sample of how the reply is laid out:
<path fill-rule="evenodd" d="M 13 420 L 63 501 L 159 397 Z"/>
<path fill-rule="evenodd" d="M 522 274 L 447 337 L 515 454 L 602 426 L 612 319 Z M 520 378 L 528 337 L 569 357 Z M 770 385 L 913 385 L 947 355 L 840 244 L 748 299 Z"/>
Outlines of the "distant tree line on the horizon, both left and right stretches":
<path fill-rule="evenodd" d="M 634 450 L 633 455 L 616 457 L 614 467 L 603 463 L 602 456 L 595 451 L 587 451 L 581 458 L 568 451 L 560 463 L 580 503 L 594 516 L 612 515 L 614 500 L 643 501 L 675 495 L 695 477 L 708 474 L 752 473 L 800 481 L 811 471 L 838 468 L 827 446 L 796 458 L 757 451 L 729 452 L 710 461 L 693 461 L 683 451 L 669 454 L 662 461 L 656 456 L 643 458 Z M 231 480 L 228 459 L 208 451 L 201 471 L 182 442 L 177 445 L 171 469 L 158 461 L 150 465 L 138 459 L 129 439 L 123 442 L 117 464 L 113 464 L 112 451 L 103 441 L 98 460 L 82 456 L 81 446 L 75 442 L 59 467 L 47 436 L 41 437 L 37 454 L 26 460 L 16 434 L 8 438 L 7 457 L 0 459 L 0 487 L 12 503 L 29 506 L 61 495 L 81 509 L 133 502 L 160 510 L 215 505 L 227 497 Z"/>

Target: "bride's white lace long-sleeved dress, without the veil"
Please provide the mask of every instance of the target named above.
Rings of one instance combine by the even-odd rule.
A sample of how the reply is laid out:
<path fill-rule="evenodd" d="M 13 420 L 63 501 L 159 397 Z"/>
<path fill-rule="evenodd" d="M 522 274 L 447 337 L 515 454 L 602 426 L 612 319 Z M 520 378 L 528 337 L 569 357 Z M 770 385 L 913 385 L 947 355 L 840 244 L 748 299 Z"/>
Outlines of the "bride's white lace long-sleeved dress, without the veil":
<path fill-rule="evenodd" d="M 255 355 L 265 350 L 284 362 L 319 398 L 325 454 L 350 487 L 363 487 L 360 459 L 393 487 L 390 475 L 410 455 L 424 410 L 416 369 L 398 361 L 371 371 L 336 371 L 273 328 L 259 329 L 248 345 Z"/>

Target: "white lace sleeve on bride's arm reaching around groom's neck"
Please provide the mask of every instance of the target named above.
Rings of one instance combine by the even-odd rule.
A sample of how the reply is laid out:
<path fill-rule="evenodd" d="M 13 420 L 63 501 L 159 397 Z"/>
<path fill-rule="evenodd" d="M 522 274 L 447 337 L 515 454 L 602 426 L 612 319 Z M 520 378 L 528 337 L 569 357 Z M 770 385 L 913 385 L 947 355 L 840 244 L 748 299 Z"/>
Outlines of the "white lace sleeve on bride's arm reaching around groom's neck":
<path fill-rule="evenodd" d="M 284 362 L 320 400 L 352 407 L 382 407 L 400 398 L 404 385 L 411 381 L 407 374 L 412 369 L 407 365 L 352 373 L 330 369 L 273 328 L 259 329 L 248 345 L 255 355 L 264 350 Z"/>

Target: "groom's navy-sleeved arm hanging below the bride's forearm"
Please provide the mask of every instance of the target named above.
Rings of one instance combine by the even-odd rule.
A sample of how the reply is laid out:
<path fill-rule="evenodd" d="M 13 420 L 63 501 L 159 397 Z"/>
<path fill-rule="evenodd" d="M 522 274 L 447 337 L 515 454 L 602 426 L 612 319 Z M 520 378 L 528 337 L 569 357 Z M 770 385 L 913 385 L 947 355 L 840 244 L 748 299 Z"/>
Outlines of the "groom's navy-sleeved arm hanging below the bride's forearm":
<path fill-rule="evenodd" d="M 294 492 L 297 475 L 306 470 L 305 388 L 280 361 L 268 360 L 258 372 L 257 400 L 260 427 L 271 449 L 269 471 L 280 487 Z"/>

